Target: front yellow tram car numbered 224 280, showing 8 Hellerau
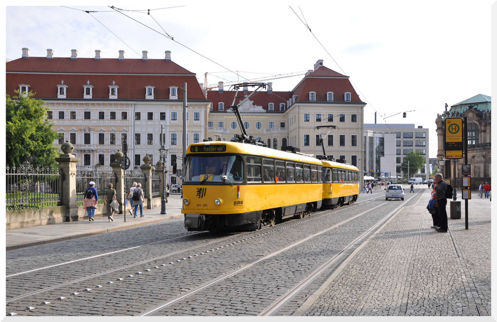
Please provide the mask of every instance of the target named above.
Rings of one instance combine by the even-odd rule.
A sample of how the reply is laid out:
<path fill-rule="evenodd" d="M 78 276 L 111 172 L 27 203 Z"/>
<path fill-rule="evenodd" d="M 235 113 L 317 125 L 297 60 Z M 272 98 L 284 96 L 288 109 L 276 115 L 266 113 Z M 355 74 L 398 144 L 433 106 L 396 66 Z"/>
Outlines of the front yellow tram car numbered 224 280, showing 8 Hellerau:
<path fill-rule="evenodd" d="M 258 145 L 208 141 L 188 146 L 185 228 L 254 230 L 322 206 L 320 160 Z"/>

